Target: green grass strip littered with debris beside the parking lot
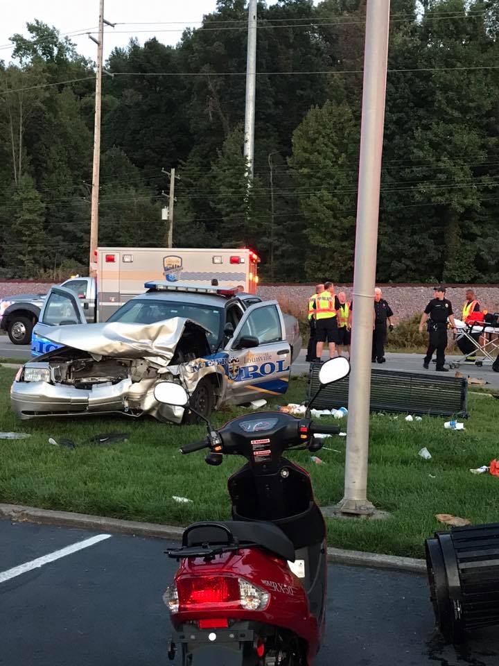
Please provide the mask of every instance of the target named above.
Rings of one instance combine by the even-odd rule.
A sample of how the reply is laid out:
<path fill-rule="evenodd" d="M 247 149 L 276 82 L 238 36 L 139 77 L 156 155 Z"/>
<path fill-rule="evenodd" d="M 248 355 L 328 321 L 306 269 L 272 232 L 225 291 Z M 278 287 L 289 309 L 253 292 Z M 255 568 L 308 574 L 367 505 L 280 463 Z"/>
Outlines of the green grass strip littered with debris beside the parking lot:
<path fill-rule="evenodd" d="M 242 460 L 227 457 L 213 468 L 204 463 L 203 452 L 178 452 L 180 445 L 203 436 L 202 426 L 163 425 L 149 418 L 23 422 L 9 407 L 14 374 L 13 369 L 0 369 L 0 430 L 32 436 L 0 440 L 0 501 L 180 525 L 229 518 L 227 477 Z M 305 390 L 303 379 L 293 380 L 281 402 L 299 402 Z M 270 407 L 274 404 L 270 400 Z M 469 468 L 488 465 L 499 455 L 499 401 L 471 394 L 469 404 L 472 416 L 464 432 L 444 429 L 446 418 L 406 422 L 403 415 L 371 417 L 369 499 L 392 515 L 372 522 L 329 520 L 331 545 L 422 556 L 424 539 L 444 529 L 435 513 L 454 513 L 474 523 L 497 520 L 499 478 L 471 475 Z M 243 411 L 218 413 L 215 422 L 220 425 Z M 346 429 L 345 420 L 340 423 Z M 110 431 L 129 432 L 130 440 L 102 447 L 83 444 L 94 434 Z M 49 436 L 71 438 L 77 448 L 54 447 Z M 326 440 L 326 447 L 337 452 L 319 452 L 325 465 L 311 463 L 308 452 L 290 453 L 290 459 L 310 470 L 321 505 L 342 497 L 345 440 Z M 423 446 L 432 454 L 430 461 L 417 454 Z M 177 504 L 172 495 L 193 503 Z"/>

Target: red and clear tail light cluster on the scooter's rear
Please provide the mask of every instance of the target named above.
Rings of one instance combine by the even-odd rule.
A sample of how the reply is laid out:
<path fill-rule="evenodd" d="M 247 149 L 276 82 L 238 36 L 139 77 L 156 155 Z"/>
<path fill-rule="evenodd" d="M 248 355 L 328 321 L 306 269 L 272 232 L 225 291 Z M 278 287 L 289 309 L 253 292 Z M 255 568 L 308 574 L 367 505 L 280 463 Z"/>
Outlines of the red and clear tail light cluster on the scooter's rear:
<path fill-rule="evenodd" d="M 243 578 L 229 576 L 197 576 L 177 581 L 177 596 L 166 590 L 165 603 L 171 613 L 186 610 L 238 609 L 261 610 L 270 595 Z"/>

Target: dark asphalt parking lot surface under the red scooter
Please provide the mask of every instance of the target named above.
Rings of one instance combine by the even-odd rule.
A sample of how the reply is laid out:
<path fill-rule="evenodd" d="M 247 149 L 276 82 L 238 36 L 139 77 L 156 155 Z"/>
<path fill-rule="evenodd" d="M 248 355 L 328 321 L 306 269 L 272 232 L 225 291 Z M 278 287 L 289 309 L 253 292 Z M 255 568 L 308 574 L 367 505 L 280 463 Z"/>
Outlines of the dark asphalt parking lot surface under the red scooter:
<path fill-rule="evenodd" d="M 175 561 L 159 539 L 112 535 L 6 579 L 98 533 L 0 521 L 2 666 L 166 665 L 161 601 Z M 435 633 L 426 577 L 333 565 L 326 638 L 314 666 L 496 666 L 493 629 L 456 651 Z M 175 662 L 179 664 L 178 660 Z"/>

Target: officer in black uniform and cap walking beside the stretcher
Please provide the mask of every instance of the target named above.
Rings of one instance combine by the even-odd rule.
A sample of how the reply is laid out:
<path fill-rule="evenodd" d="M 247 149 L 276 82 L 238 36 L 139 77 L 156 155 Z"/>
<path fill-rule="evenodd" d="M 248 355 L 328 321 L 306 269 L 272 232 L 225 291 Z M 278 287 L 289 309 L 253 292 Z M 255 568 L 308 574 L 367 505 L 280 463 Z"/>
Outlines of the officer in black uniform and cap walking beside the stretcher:
<path fill-rule="evenodd" d="M 419 332 L 423 332 L 423 326 L 426 322 L 428 330 L 428 350 L 426 357 L 423 359 L 423 366 L 428 370 L 433 352 L 437 350 L 437 370 L 440 373 L 448 373 L 448 369 L 444 368 L 445 363 L 445 350 L 447 346 L 447 320 L 450 321 L 454 332 L 457 332 L 455 327 L 454 315 L 452 304 L 450 300 L 445 298 L 445 287 L 435 287 L 436 298 L 432 298 L 426 306 L 421 321 L 419 322 Z"/>

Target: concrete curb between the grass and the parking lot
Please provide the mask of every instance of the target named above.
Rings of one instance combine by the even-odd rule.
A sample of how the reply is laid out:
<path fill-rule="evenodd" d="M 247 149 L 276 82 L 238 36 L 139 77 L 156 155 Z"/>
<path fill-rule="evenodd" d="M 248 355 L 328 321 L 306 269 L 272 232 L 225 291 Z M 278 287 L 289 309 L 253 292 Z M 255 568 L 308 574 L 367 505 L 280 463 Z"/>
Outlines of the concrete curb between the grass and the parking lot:
<path fill-rule="evenodd" d="M 152 522 L 135 520 L 119 520 L 103 518 L 100 515 L 87 513 L 71 513 L 70 511 L 49 511 L 36 509 L 33 506 L 20 504 L 0 504 L 0 520 L 12 522 L 36 522 L 38 524 L 57 525 L 60 527 L 78 527 L 81 529 L 97 529 L 134 536 L 157 537 L 162 539 L 180 540 L 183 527 L 159 525 Z M 328 561 L 338 564 L 360 567 L 376 567 L 378 569 L 394 569 L 417 574 L 426 574 L 426 562 L 412 557 L 394 555 L 378 555 L 357 550 L 328 548 Z"/>

